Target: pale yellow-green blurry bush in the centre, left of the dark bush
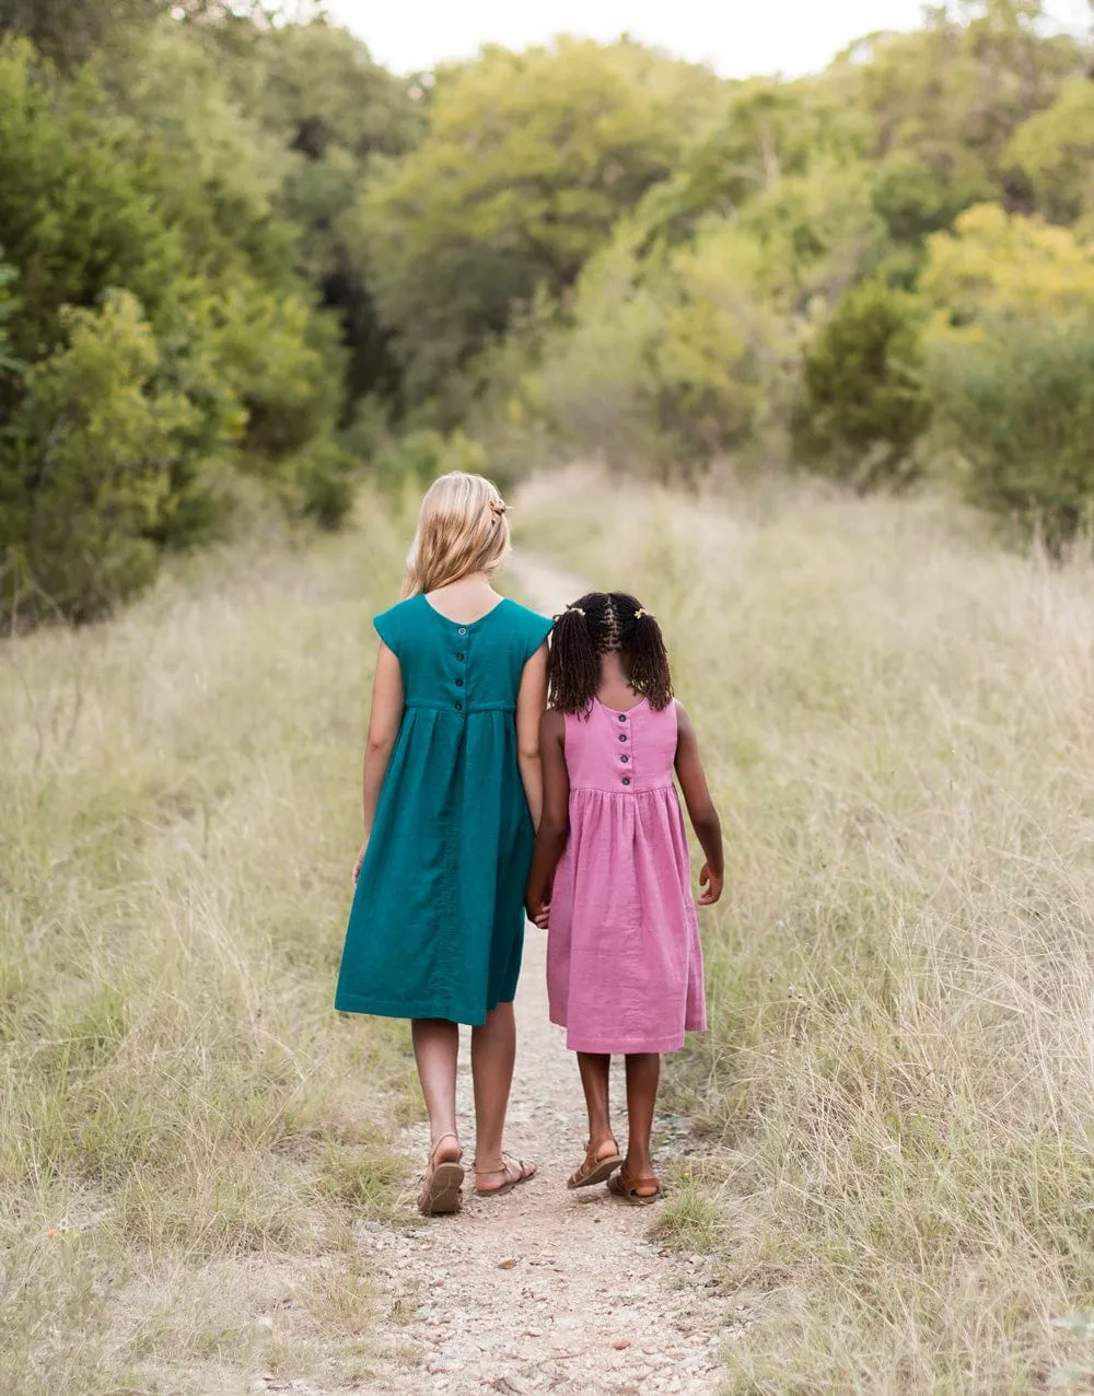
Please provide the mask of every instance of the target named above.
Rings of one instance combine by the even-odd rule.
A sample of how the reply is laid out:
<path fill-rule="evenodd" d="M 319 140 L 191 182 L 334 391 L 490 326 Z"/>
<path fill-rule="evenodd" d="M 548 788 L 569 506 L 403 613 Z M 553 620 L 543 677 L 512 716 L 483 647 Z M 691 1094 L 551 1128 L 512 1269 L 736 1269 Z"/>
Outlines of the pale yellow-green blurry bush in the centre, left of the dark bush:
<path fill-rule="evenodd" d="M 632 242 L 624 229 L 582 276 L 572 324 L 526 377 L 532 413 L 617 468 L 747 448 L 777 412 L 793 346 L 759 243 L 721 221 L 666 257 Z"/>

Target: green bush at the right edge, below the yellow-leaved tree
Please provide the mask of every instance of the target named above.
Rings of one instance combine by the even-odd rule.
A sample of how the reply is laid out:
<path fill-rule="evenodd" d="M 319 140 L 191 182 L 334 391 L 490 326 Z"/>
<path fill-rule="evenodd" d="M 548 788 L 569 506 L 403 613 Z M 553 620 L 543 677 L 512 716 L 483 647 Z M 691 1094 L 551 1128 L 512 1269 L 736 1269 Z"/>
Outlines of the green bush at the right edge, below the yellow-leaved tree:
<path fill-rule="evenodd" d="M 1001 321 L 928 366 L 967 497 L 1059 551 L 1094 519 L 1094 318 Z"/>

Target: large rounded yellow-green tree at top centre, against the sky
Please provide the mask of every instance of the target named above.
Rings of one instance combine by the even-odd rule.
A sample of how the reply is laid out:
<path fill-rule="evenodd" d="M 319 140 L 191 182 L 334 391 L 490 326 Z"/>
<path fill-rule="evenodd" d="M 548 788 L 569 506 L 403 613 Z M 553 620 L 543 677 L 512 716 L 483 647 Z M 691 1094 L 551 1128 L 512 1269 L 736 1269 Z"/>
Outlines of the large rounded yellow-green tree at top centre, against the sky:
<path fill-rule="evenodd" d="M 437 84 L 426 140 L 361 201 L 357 233 L 412 401 L 558 295 L 667 179 L 713 80 L 635 43 L 561 39 Z"/>

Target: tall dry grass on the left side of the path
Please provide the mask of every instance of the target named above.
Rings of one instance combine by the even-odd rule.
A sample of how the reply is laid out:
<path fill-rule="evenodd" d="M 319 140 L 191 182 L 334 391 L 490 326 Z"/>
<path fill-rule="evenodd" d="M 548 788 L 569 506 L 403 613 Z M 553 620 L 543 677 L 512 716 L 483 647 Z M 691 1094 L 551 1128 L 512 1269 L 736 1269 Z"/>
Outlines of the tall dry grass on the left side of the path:
<path fill-rule="evenodd" d="M 0 1390 L 367 1374 L 405 1043 L 332 1012 L 400 544 L 0 644 Z"/>

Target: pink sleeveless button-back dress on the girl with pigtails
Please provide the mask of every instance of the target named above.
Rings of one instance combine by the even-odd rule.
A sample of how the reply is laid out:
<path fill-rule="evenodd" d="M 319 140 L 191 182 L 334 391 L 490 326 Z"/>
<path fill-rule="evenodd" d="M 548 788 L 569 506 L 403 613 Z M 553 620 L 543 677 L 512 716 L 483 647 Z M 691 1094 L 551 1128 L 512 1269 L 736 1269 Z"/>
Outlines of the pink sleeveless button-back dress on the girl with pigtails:
<path fill-rule="evenodd" d="M 567 716 L 569 842 L 547 941 L 551 1022 L 589 1053 L 677 1051 L 706 1027 L 677 706 Z"/>

